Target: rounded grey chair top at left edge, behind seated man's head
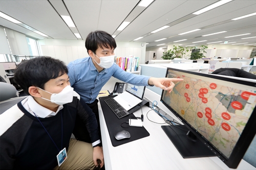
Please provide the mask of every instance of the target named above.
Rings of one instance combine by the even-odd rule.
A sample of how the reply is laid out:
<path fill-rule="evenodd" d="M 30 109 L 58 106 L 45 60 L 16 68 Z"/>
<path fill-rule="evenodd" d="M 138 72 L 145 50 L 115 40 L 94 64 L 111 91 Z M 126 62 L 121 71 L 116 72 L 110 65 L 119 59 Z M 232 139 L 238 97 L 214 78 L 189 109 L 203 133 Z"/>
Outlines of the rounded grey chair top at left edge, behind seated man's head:
<path fill-rule="evenodd" d="M 0 102 L 14 98 L 16 95 L 16 88 L 9 84 L 0 82 Z"/>

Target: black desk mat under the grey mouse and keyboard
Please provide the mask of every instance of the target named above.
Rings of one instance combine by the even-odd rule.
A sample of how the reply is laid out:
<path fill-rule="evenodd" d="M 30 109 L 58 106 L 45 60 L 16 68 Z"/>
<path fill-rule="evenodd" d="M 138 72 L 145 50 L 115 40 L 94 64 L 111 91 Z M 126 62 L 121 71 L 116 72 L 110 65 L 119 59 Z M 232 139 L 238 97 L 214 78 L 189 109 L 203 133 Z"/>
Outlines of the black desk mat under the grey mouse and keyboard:
<path fill-rule="evenodd" d="M 104 102 L 105 99 L 113 98 L 113 96 L 105 96 L 99 98 L 101 109 L 105 118 L 106 127 L 108 127 L 108 131 L 110 134 L 110 139 L 112 142 L 113 147 L 117 147 L 121 144 L 128 143 L 146 136 L 150 136 L 150 133 L 147 132 L 147 130 L 144 127 L 127 127 L 128 124 L 125 124 L 123 122 L 129 122 L 129 118 L 134 118 L 134 114 L 130 114 L 127 116 L 124 116 L 122 118 L 118 118 L 115 113 L 110 109 L 110 107 Z M 121 123 L 123 127 L 121 127 Z M 128 131 L 131 134 L 130 138 L 117 140 L 115 138 L 115 134 L 117 132 L 120 132 L 122 130 Z"/>

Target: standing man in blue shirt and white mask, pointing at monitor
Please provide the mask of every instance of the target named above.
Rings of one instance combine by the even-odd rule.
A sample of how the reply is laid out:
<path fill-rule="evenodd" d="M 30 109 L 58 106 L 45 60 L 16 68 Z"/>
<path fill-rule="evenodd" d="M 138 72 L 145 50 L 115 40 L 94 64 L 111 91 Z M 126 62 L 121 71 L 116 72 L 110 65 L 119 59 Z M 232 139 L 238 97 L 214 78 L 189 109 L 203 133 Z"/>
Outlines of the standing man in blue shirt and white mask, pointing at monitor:
<path fill-rule="evenodd" d="M 132 74 L 122 70 L 114 63 L 115 39 L 104 31 L 91 32 L 86 38 L 86 48 L 90 57 L 77 59 L 69 63 L 70 84 L 96 114 L 99 125 L 98 100 L 99 91 L 113 76 L 123 82 L 137 86 L 153 86 L 172 91 L 173 81 L 183 79 L 153 78 Z M 82 128 L 81 128 L 82 129 Z M 82 133 L 82 132 L 81 132 Z M 81 134 L 82 135 L 82 134 Z M 83 135 L 79 140 L 87 139 Z"/>

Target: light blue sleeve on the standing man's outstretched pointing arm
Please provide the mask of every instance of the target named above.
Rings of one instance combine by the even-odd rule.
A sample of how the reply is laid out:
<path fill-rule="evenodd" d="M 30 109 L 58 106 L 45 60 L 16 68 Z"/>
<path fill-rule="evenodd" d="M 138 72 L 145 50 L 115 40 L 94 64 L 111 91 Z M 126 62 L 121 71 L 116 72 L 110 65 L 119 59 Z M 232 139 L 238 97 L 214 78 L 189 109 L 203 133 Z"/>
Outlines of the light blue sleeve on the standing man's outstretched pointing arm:
<path fill-rule="evenodd" d="M 150 79 L 150 77 L 144 75 L 136 75 L 131 72 L 126 72 L 116 64 L 114 64 L 113 77 L 123 82 L 131 83 L 137 86 L 152 86 L 148 85 L 148 80 Z"/>

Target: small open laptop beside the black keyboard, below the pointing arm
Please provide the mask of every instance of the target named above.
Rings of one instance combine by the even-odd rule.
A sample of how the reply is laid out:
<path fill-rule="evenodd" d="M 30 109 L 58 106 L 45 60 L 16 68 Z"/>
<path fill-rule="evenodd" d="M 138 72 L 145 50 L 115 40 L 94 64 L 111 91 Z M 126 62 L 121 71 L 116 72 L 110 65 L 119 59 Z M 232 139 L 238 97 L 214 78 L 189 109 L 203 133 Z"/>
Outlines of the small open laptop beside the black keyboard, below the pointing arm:
<path fill-rule="evenodd" d="M 135 86 L 127 83 L 125 91 L 113 99 L 128 111 L 143 101 L 145 88 L 146 86 Z"/>

